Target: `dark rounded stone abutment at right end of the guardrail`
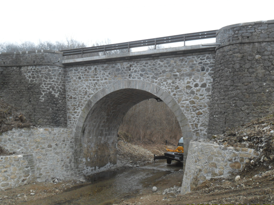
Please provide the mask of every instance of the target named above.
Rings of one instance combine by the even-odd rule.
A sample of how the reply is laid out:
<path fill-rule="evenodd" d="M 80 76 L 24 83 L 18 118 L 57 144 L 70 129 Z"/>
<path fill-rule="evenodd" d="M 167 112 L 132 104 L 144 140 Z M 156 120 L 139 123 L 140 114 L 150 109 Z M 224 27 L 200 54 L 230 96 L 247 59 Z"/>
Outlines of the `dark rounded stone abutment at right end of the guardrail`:
<path fill-rule="evenodd" d="M 274 20 L 217 32 L 208 137 L 274 112 Z"/>

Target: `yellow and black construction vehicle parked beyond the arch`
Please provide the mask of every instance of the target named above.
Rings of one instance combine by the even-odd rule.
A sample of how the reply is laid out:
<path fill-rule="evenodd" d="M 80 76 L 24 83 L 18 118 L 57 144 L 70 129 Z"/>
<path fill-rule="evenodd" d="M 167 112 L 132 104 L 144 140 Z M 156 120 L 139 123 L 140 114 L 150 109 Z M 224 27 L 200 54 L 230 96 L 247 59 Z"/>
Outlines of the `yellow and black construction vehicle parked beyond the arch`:
<path fill-rule="evenodd" d="M 167 140 L 166 140 L 167 144 Z M 156 159 L 166 159 L 166 163 L 171 164 L 172 160 L 183 161 L 184 160 L 184 140 L 183 137 L 180 138 L 178 142 L 178 147 L 176 149 L 168 149 L 166 147 L 163 156 L 154 155 L 154 163 Z"/>

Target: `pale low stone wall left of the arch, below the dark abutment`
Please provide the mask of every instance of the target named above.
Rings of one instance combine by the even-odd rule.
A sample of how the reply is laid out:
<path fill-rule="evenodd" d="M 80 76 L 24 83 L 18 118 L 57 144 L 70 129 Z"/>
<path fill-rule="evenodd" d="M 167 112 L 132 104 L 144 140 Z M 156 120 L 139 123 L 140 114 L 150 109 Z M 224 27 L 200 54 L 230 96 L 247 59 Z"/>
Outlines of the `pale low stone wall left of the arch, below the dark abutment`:
<path fill-rule="evenodd" d="M 32 161 L 26 160 L 31 167 L 30 180 L 49 181 L 52 177 L 70 179 L 74 177 L 73 137 L 72 130 L 67 128 L 23 128 L 2 133 L 0 144 L 17 155 L 23 155 L 23 158 L 33 157 Z M 15 161 L 17 155 L 9 156 L 10 160 Z M 3 159 L 6 157 L 8 156 L 4 156 Z M 18 168 L 17 171 L 19 170 L 22 171 L 20 176 L 24 176 L 25 169 Z"/>

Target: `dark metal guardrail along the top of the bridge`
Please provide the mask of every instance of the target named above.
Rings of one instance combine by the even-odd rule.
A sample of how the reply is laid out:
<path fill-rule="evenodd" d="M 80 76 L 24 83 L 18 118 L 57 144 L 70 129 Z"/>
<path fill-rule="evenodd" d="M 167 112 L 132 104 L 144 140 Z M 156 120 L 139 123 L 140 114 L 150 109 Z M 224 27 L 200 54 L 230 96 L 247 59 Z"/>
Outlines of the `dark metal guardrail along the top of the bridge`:
<path fill-rule="evenodd" d="M 200 40 L 206 38 L 216 38 L 216 31 L 203 31 L 203 32 L 196 32 L 196 33 L 188 33 L 188 34 L 181 34 L 176 36 L 166 36 L 161 38 L 150 38 L 145 40 L 137 40 L 137 41 L 130 41 L 118 44 L 108 44 L 103 46 L 94 46 L 94 47 L 87 47 L 87 48 L 77 48 L 71 50 L 61 50 L 63 52 L 63 56 L 71 56 L 71 55 L 79 55 L 79 54 L 87 54 L 87 53 L 96 53 L 96 52 L 107 52 L 113 50 L 122 50 L 130 48 L 137 48 L 142 46 L 154 46 L 156 49 L 156 45 L 160 44 L 168 44 L 168 43 L 176 43 L 176 42 L 184 42 L 184 46 L 186 45 L 186 41 L 191 40 Z"/>

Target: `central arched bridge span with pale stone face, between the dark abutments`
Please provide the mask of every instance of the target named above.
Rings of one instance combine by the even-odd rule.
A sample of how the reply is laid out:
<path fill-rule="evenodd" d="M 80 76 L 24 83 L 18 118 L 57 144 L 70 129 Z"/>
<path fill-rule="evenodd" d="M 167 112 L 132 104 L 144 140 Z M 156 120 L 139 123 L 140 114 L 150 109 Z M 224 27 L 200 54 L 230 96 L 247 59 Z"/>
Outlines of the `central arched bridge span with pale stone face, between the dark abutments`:
<path fill-rule="evenodd" d="M 214 50 L 213 46 L 191 46 L 64 60 L 67 98 L 71 99 L 68 124 L 75 126 L 76 156 L 83 159 L 79 171 L 91 173 L 94 164 L 103 167 L 106 161 L 116 162 L 114 136 L 120 123 L 133 105 L 147 99 L 161 99 L 174 112 L 186 153 L 193 136 L 206 138 Z M 75 112 L 75 102 L 80 112 Z M 100 161 L 94 156 L 100 156 Z"/>

